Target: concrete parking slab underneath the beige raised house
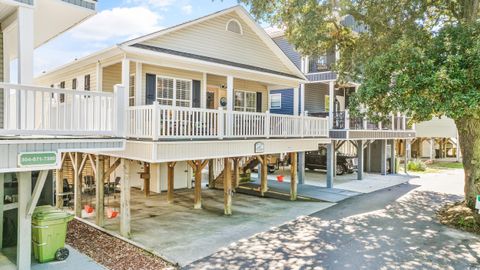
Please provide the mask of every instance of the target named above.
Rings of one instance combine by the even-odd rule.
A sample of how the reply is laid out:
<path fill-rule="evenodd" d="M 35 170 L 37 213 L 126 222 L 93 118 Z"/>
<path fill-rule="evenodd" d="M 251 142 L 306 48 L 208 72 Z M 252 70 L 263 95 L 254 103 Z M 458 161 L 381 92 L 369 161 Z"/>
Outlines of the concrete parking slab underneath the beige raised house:
<path fill-rule="evenodd" d="M 168 204 L 166 193 L 148 198 L 132 188 L 132 240 L 181 266 L 208 256 L 222 247 L 334 205 L 233 196 L 233 215 L 223 215 L 223 191 L 202 190 L 203 209 L 193 209 L 193 190 L 175 191 Z M 118 198 L 110 201 L 119 207 Z M 93 221 L 94 217 L 87 218 Z M 107 219 L 105 229 L 118 233 L 119 218 Z"/>

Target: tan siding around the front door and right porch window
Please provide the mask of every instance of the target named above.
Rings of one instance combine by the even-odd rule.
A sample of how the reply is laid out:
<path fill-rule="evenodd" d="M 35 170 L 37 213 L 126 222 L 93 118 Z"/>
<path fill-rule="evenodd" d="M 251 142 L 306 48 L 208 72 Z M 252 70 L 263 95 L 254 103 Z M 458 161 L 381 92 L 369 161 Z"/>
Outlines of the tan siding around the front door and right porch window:
<path fill-rule="evenodd" d="M 220 91 L 227 91 L 227 77 L 217 76 L 217 75 L 208 75 L 207 76 L 207 85 L 216 86 L 220 88 Z M 225 88 L 222 88 L 222 85 Z M 243 90 L 250 92 L 261 92 L 262 93 L 262 111 L 265 112 L 268 110 L 268 88 L 266 85 L 249 80 L 243 79 L 234 79 L 233 80 L 233 90 Z"/>

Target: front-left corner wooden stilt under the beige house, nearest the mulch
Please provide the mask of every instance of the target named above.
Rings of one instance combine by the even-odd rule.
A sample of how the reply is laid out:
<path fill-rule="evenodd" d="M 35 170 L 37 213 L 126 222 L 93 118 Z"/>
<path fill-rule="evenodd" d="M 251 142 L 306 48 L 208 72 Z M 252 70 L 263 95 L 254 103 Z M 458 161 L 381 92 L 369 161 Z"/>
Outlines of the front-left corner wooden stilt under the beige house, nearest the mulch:
<path fill-rule="evenodd" d="M 120 183 L 120 235 L 130 238 L 130 164 L 122 159 L 123 177 Z"/>

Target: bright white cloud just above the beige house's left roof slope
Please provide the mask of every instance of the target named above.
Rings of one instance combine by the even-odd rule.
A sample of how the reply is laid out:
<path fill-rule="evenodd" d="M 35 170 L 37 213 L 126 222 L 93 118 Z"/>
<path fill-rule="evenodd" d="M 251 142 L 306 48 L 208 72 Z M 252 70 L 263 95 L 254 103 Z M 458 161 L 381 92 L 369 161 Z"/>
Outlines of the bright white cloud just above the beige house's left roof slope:
<path fill-rule="evenodd" d="M 74 38 L 93 42 L 114 38 L 130 39 L 161 29 L 159 25 L 161 19 L 160 15 L 145 7 L 114 8 L 101 11 L 75 27 L 70 33 Z"/>

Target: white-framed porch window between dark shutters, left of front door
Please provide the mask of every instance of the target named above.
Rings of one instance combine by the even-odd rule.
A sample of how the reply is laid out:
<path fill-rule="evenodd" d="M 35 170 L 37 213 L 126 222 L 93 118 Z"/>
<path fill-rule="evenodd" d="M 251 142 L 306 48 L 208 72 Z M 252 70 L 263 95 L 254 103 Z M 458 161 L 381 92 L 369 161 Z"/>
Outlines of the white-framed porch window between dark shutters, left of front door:
<path fill-rule="evenodd" d="M 161 105 L 192 107 L 192 81 L 157 76 L 157 101 Z"/>

